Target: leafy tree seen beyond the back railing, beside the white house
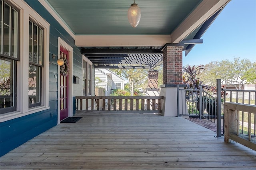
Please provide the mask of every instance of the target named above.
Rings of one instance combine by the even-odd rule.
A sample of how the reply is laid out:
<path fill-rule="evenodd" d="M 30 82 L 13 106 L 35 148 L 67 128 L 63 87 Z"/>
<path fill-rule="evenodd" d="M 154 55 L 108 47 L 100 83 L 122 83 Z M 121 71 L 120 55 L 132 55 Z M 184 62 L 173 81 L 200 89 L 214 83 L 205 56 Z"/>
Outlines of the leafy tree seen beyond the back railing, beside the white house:
<path fill-rule="evenodd" d="M 111 71 L 128 80 L 131 96 L 133 96 L 134 88 L 143 84 L 148 76 L 146 69 L 111 69 Z"/>

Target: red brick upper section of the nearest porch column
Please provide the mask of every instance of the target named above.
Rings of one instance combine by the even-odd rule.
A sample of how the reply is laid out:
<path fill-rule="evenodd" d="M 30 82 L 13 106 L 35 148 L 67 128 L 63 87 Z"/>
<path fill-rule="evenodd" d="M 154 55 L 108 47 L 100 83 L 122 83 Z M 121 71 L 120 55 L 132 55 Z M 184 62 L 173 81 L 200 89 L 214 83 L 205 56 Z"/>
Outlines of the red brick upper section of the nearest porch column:
<path fill-rule="evenodd" d="M 163 84 L 182 84 L 182 46 L 163 49 Z"/>

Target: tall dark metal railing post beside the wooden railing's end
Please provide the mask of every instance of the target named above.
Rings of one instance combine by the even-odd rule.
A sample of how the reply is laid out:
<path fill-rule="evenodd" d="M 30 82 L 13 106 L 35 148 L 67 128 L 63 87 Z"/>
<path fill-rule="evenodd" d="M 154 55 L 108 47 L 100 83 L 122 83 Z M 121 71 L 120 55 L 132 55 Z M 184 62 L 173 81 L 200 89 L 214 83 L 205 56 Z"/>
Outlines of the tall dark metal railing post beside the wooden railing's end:
<path fill-rule="evenodd" d="M 222 138 L 221 134 L 221 79 L 217 79 L 217 136 L 216 138 Z"/>

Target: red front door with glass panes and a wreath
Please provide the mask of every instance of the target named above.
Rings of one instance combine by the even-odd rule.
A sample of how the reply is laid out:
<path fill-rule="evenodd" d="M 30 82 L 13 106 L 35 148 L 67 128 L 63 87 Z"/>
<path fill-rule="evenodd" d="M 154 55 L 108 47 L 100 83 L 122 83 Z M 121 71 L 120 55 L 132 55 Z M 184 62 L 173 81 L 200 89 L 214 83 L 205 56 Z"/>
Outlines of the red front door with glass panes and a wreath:
<path fill-rule="evenodd" d="M 67 58 L 68 50 L 60 46 L 60 56 Z M 68 117 L 68 74 L 60 74 L 60 120 Z"/>

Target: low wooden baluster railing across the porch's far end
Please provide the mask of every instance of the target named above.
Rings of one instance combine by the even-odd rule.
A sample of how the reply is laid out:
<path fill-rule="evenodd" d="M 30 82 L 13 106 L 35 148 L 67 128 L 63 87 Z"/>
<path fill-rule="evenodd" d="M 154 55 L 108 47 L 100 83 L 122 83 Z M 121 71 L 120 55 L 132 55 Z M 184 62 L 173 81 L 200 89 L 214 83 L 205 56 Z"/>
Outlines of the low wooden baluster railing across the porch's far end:
<path fill-rule="evenodd" d="M 76 113 L 161 113 L 163 96 L 76 96 Z"/>

